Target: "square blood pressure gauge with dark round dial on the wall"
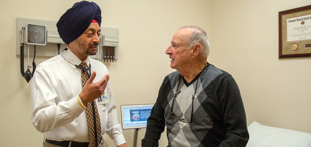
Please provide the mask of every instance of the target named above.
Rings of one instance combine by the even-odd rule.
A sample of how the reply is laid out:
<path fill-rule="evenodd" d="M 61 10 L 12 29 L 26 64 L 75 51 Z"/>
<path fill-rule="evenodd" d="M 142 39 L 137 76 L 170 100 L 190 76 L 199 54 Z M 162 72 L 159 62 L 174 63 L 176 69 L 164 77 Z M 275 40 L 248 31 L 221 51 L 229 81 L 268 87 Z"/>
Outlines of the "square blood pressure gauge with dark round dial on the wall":
<path fill-rule="evenodd" d="M 46 29 L 43 25 L 27 23 L 25 35 L 28 45 L 46 45 Z"/>

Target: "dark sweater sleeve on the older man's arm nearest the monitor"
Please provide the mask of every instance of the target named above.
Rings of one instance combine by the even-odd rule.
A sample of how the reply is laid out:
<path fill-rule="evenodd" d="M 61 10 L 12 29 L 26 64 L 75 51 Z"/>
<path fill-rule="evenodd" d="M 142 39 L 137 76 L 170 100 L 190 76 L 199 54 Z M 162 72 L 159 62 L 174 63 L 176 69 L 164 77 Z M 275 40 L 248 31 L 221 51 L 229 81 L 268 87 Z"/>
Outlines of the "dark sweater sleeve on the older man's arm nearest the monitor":
<path fill-rule="evenodd" d="M 155 105 L 151 109 L 150 116 L 147 120 L 146 134 L 142 139 L 142 147 L 157 147 L 159 146 L 159 140 L 161 133 L 165 128 L 164 108 L 162 107 L 162 91 L 164 82 L 162 83 L 158 98 Z"/>

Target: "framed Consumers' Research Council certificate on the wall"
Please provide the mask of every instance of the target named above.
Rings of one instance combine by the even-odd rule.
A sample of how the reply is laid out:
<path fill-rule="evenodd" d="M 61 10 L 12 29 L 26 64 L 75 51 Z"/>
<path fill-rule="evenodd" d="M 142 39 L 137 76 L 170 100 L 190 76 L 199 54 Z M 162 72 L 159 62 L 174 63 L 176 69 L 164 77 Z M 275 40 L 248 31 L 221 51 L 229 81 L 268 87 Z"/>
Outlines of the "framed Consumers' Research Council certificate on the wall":
<path fill-rule="evenodd" d="M 279 59 L 311 57 L 311 5 L 279 12 Z"/>

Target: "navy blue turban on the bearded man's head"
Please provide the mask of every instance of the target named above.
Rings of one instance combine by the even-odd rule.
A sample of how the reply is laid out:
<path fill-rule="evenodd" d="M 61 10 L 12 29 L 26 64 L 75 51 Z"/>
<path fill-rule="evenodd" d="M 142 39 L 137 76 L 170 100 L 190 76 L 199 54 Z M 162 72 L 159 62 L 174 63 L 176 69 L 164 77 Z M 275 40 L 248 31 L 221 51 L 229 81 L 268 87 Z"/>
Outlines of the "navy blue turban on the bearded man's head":
<path fill-rule="evenodd" d="M 81 36 L 93 20 L 100 26 L 100 7 L 95 2 L 77 2 L 58 20 L 56 24 L 58 34 L 66 44 L 69 44 Z"/>

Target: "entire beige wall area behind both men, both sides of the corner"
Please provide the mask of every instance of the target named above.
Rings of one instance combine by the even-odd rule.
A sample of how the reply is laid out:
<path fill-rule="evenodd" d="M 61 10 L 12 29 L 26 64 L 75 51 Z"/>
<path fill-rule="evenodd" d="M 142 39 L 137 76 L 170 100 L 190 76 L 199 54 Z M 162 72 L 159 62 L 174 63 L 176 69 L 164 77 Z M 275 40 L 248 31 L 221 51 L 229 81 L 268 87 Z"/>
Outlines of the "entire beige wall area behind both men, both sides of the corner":
<path fill-rule="evenodd" d="M 57 21 L 74 2 L 77 1 L 1 2 L 0 48 L 4 52 L 0 54 L 0 146 L 39 147 L 43 142 L 42 133 L 30 120 L 30 83 L 21 77 L 15 52 L 16 17 Z M 174 71 L 165 55 L 171 37 L 178 27 L 195 25 L 211 38 L 208 61 L 231 73 L 237 81 L 248 125 L 258 121 L 311 133 L 311 58 L 278 59 L 278 12 L 308 5 L 309 1 L 94 2 L 102 9 L 102 26 L 119 28 L 119 59 L 105 63 L 119 122 L 120 105 L 155 102 L 163 78 Z M 35 61 L 39 64 L 46 59 L 36 57 Z M 123 130 L 129 146 L 133 133 L 134 130 Z M 144 134 L 145 129 L 139 131 L 137 146 Z M 104 137 L 114 146 L 107 135 Z M 162 133 L 160 146 L 165 145 L 166 133 Z"/>

